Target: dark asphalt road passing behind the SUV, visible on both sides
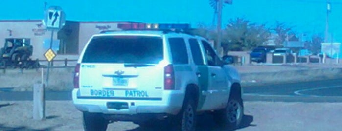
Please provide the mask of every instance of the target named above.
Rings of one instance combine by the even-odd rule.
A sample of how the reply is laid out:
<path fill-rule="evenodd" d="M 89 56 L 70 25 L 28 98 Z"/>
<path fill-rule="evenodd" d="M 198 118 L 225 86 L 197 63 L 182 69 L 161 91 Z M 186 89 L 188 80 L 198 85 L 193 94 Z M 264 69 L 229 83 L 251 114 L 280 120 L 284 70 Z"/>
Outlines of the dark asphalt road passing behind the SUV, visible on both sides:
<path fill-rule="evenodd" d="M 342 102 L 342 79 L 243 87 L 244 101 Z M 0 100 L 32 100 L 32 92 L 0 91 Z M 46 100 L 71 100 L 71 91 L 46 92 Z"/>

